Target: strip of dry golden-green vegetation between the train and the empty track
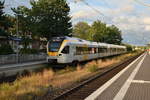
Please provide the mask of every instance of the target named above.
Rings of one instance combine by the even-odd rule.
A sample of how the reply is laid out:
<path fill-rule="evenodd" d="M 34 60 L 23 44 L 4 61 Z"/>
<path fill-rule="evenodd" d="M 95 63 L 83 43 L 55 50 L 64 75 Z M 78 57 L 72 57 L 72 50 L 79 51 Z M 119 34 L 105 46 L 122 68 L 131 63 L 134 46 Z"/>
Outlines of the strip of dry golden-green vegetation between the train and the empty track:
<path fill-rule="evenodd" d="M 59 91 L 81 82 L 82 80 L 137 54 L 139 54 L 139 52 L 94 60 L 85 65 L 78 65 L 76 68 L 66 67 L 59 71 L 45 69 L 40 73 L 31 73 L 29 76 L 19 77 L 13 83 L 1 84 L 0 99 L 32 100 L 45 95 L 48 91 Z"/>

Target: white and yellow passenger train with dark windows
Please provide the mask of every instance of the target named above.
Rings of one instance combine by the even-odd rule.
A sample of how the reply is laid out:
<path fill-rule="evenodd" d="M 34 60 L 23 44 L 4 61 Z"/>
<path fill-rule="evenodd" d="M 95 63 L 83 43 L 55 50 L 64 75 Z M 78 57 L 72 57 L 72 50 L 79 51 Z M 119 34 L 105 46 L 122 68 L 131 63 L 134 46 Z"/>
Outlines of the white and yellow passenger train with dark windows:
<path fill-rule="evenodd" d="M 53 37 L 47 43 L 47 62 L 77 64 L 78 62 L 126 53 L 126 46 L 91 42 L 76 37 Z"/>

